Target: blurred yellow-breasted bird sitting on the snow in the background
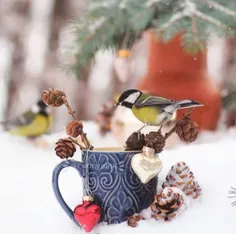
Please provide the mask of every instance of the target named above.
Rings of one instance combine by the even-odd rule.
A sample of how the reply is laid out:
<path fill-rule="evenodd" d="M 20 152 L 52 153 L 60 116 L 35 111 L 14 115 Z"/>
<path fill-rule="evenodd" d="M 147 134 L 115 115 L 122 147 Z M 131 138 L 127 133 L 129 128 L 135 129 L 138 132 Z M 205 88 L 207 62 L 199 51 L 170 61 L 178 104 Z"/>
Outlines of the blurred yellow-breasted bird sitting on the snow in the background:
<path fill-rule="evenodd" d="M 36 138 L 47 133 L 52 123 L 49 107 L 39 100 L 19 117 L 1 122 L 11 135 Z"/>

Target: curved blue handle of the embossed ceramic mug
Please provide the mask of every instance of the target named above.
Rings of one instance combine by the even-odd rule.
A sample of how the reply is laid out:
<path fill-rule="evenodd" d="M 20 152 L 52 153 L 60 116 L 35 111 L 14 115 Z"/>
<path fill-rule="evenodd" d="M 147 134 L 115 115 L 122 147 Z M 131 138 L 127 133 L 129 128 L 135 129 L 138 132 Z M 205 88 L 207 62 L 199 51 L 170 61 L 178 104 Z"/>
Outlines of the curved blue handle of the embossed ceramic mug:
<path fill-rule="evenodd" d="M 61 163 L 59 163 L 53 170 L 53 175 L 52 175 L 52 186 L 53 186 L 53 191 L 54 194 L 57 198 L 57 201 L 59 202 L 59 204 L 61 205 L 62 209 L 67 213 L 67 215 L 79 226 L 81 226 L 75 219 L 74 217 L 74 212 L 72 211 L 72 209 L 66 204 L 64 198 L 61 195 L 61 191 L 58 185 L 59 182 L 59 175 L 62 171 L 62 169 L 67 168 L 67 167 L 73 167 L 75 168 L 80 176 L 82 178 L 85 178 L 85 167 L 84 164 L 82 162 L 78 162 L 75 160 L 66 160 L 63 161 Z"/>

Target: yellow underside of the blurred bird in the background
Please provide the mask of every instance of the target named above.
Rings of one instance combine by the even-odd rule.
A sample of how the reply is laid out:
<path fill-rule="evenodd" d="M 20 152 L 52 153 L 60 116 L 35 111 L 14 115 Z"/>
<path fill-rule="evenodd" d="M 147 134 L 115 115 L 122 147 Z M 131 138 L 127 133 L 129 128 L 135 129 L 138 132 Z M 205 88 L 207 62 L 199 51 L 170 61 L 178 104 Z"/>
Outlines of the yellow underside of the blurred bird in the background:
<path fill-rule="evenodd" d="M 39 136 L 47 132 L 51 121 L 51 116 L 45 117 L 43 115 L 37 115 L 30 124 L 16 127 L 10 131 L 10 134 L 26 137 Z"/>

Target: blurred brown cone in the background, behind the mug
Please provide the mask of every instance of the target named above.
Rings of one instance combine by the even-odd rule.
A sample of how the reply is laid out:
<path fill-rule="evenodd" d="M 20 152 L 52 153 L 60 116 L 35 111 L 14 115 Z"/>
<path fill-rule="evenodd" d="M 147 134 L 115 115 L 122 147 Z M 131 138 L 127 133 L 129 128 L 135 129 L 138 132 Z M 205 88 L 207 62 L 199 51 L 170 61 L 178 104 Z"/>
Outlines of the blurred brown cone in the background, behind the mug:
<path fill-rule="evenodd" d="M 102 135 L 111 131 L 111 118 L 115 111 L 115 101 L 111 100 L 102 106 L 102 110 L 98 113 L 96 122 L 99 125 L 99 131 Z"/>

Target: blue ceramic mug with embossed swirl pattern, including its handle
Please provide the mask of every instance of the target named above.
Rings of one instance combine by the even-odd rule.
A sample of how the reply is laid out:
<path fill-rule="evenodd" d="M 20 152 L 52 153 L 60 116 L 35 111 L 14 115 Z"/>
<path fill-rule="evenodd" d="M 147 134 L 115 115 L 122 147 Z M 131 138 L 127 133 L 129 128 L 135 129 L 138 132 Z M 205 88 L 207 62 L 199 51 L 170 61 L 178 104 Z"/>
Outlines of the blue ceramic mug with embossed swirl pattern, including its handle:
<path fill-rule="evenodd" d="M 142 184 L 131 168 L 131 158 L 137 153 L 140 151 L 82 151 L 82 162 L 66 160 L 55 167 L 52 178 L 54 193 L 75 223 L 74 212 L 64 201 L 58 186 L 61 170 L 73 167 L 79 172 L 83 178 L 84 195 L 91 195 L 102 209 L 100 222 L 121 223 L 149 207 L 156 194 L 157 177 Z"/>

